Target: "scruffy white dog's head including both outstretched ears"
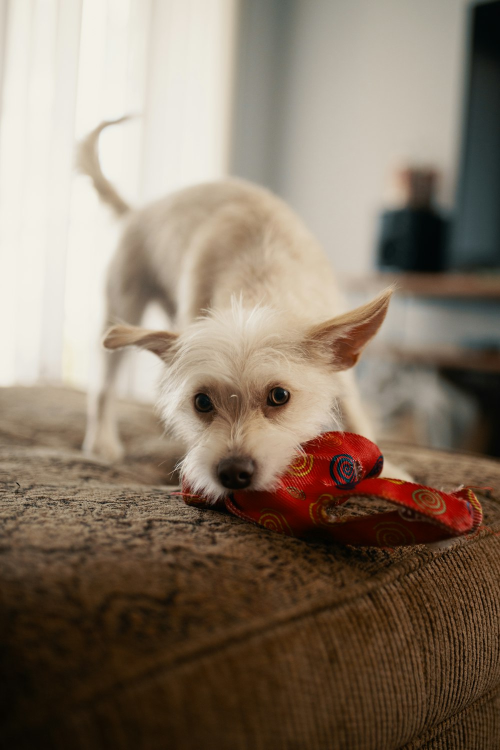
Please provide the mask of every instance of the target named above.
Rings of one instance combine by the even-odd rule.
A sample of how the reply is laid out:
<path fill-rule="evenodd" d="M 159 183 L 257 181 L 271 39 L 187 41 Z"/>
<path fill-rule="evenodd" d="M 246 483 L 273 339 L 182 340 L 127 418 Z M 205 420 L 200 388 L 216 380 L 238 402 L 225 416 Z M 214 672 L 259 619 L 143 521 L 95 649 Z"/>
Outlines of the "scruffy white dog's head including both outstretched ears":
<path fill-rule="evenodd" d="M 134 345 L 165 363 L 160 413 L 187 446 L 181 474 L 194 492 L 269 490 L 301 443 L 340 428 L 338 373 L 355 365 L 390 297 L 313 327 L 233 302 L 180 335 L 115 326 L 104 346 Z"/>

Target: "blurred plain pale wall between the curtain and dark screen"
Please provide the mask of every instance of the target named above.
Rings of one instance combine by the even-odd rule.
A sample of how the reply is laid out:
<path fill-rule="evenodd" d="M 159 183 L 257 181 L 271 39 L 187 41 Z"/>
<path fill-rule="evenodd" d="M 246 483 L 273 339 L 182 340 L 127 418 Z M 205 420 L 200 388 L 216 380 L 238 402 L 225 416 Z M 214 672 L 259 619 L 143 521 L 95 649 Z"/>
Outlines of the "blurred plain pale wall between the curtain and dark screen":
<path fill-rule="evenodd" d="M 394 167 L 454 196 L 466 0 L 241 0 L 233 171 L 289 200 L 340 272 L 373 264 Z"/>

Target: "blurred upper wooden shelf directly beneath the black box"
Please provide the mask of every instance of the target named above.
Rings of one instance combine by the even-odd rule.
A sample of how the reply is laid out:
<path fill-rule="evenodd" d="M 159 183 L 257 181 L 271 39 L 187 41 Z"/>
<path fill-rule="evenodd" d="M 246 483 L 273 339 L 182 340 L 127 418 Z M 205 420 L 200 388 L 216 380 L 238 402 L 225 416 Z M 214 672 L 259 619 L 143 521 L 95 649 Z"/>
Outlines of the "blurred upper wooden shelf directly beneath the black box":
<path fill-rule="evenodd" d="M 394 284 L 398 294 L 433 299 L 482 299 L 500 302 L 500 272 L 491 274 L 418 274 L 373 272 L 342 279 L 348 292 L 377 293 Z"/>

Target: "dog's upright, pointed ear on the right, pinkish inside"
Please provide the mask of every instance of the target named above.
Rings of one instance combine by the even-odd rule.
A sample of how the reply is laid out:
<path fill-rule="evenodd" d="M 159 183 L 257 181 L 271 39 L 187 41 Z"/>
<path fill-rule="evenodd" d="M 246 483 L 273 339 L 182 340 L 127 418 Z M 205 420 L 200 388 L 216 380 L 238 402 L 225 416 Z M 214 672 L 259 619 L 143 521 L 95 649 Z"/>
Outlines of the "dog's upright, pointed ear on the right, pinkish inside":
<path fill-rule="evenodd" d="M 352 368 L 382 326 L 393 291 L 385 290 L 367 305 L 314 326 L 307 335 L 307 348 L 326 356 L 335 370 Z"/>

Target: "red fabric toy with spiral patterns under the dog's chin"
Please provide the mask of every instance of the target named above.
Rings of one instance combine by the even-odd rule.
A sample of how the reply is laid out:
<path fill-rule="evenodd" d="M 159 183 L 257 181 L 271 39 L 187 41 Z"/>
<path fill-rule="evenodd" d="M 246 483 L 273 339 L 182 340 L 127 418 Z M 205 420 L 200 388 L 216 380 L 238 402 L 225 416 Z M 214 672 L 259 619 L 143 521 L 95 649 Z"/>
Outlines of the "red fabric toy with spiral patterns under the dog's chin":
<path fill-rule="evenodd" d="M 304 443 L 304 453 L 288 467 L 273 492 L 241 490 L 215 504 L 190 493 L 188 505 L 226 508 L 230 513 L 290 536 L 343 544 L 397 547 L 473 532 L 481 524 L 481 505 L 470 487 L 445 493 L 400 479 L 379 478 L 384 459 L 361 435 L 328 432 Z M 394 510 L 336 515 L 353 497 L 380 498 Z"/>

